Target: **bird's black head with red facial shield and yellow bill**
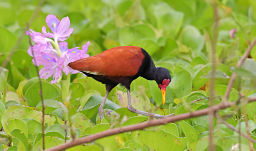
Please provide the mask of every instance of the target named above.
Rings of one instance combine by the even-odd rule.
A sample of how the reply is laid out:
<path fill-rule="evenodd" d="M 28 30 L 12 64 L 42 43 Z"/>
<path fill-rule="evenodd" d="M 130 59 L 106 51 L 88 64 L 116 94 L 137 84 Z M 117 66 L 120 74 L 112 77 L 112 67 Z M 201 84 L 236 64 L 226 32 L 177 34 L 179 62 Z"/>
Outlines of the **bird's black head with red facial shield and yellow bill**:
<path fill-rule="evenodd" d="M 158 88 L 160 88 L 162 93 L 163 105 L 165 105 L 166 87 L 169 85 L 171 80 L 172 80 L 172 77 L 170 75 L 170 72 L 167 69 L 163 67 L 157 68 L 156 83 L 158 84 Z"/>

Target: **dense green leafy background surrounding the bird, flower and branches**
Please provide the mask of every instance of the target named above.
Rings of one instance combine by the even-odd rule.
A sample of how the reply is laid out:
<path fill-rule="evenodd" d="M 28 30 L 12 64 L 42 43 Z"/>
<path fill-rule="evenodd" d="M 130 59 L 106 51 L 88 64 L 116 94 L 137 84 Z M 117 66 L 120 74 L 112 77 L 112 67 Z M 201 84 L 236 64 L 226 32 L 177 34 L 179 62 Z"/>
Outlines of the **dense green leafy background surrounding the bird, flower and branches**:
<path fill-rule="evenodd" d="M 18 41 L 39 0 L 0 1 L 0 63 Z M 255 0 L 219 0 L 218 38 L 216 45 L 216 76 L 214 104 L 223 100 L 233 72 L 238 76 L 228 101 L 239 95 L 255 96 L 256 48 L 241 68 L 237 61 L 256 36 Z M 117 46 L 134 45 L 144 48 L 156 66 L 167 68 L 173 77 L 167 88 L 166 104 L 155 81 L 138 78 L 131 86 L 133 106 L 157 114 L 174 115 L 208 108 L 209 79 L 211 75 L 213 6 L 210 0 L 46 0 L 30 29 L 41 32 L 46 26 L 45 17 L 54 14 L 59 19 L 69 16 L 72 35 L 69 48 L 82 47 L 90 41 L 90 56 Z M 236 29 L 232 36 L 231 29 Z M 22 37 L 11 60 L 0 73 L 0 150 L 42 149 L 42 103 L 39 81 L 32 58 L 27 54 L 28 36 Z M 82 74 L 63 77 L 51 85 L 43 79 L 43 96 L 46 104 L 45 145 L 51 148 L 113 127 L 131 125 L 148 120 L 148 117 L 127 110 L 126 91 L 117 86 L 104 106 L 105 120 L 100 123 L 98 107 L 104 85 Z M 69 85 L 69 81 L 71 84 Z M 66 101 L 66 95 L 68 101 Z M 196 103 L 191 101 L 203 99 Z M 230 125 L 256 139 L 256 103 L 245 105 L 242 117 L 236 108 L 223 109 L 218 115 Z M 248 118 L 245 126 L 244 116 Z M 67 121 L 67 125 L 65 125 Z M 216 150 L 249 150 L 248 140 L 216 119 L 214 144 Z M 96 140 L 86 146 L 68 150 L 205 150 L 209 144 L 208 116 L 191 118 L 143 131 L 133 131 Z M 224 141 L 225 140 L 225 141 Z M 256 149 L 256 144 L 253 144 Z"/>

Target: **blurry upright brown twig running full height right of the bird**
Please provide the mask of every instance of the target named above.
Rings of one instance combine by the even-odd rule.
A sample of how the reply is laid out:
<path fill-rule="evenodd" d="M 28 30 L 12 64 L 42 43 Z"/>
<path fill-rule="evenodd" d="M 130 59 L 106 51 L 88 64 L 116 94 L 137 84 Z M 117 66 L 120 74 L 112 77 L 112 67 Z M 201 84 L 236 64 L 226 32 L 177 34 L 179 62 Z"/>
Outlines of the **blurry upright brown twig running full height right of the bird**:
<path fill-rule="evenodd" d="M 213 12 L 214 12 L 214 26 L 213 26 L 213 38 L 212 38 L 212 74 L 210 80 L 210 108 L 208 113 L 208 125 L 209 125 L 209 151 L 214 150 L 213 144 L 213 116 L 214 111 L 212 109 L 213 106 L 213 97 L 214 97 L 214 85 L 215 85 L 215 73 L 216 73 L 216 44 L 218 37 L 218 4 L 214 1 L 213 3 Z"/>

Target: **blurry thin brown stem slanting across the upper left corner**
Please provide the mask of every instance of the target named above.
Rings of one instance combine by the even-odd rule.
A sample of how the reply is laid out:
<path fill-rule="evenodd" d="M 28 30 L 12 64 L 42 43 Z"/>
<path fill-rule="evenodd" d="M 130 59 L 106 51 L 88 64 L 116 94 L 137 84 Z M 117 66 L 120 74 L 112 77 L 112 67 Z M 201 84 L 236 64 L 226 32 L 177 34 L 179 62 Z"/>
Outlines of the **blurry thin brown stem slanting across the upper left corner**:
<path fill-rule="evenodd" d="M 34 21 L 35 17 L 37 17 L 37 14 L 39 13 L 40 8 L 41 8 L 41 6 L 43 5 L 44 1 L 45 1 L 45 0 L 40 0 L 40 1 L 39 1 L 37 8 L 34 10 L 34 12 L 33 12 L 32 16 L 31 16 L 31 18 L 30 18 L 29 21 L 28 21 L 28 25 L 31 25 L 32 22 Z M 21 41 L 22 41 L 22 39 L 23 39 L 23 37 L 24 37 L 24 35 L 25 35 L 25 33 L 26 33 L 26 30 L 27 30 L 26 27 L 22 30 L 22 32 L 21 32 L 21 34 L 20 34 L 20 36 L 19 36 L 19 39 L 18 39 L 17 42 L 15 43 L 15 45 L 14 45 L 12 51 L 10 52 L 10 54 L 9 54 L 9 55 L 5 58 L 5 60 L 3 61 L 2 65 L 1 65 L 2 68 L 5 68 L 5 66 L 7 65 L 7 63 L 11 60 L 11 58 L 12 58 L 14 52 L 17 50 L 19 44 L 21 43 Z"/>

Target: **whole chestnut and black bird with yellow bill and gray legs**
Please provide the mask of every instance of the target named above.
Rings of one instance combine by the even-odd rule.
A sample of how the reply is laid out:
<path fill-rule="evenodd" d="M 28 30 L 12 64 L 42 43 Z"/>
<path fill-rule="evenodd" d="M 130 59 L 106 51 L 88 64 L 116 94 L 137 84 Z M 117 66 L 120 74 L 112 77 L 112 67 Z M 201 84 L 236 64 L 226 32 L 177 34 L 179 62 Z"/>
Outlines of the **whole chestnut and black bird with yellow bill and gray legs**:
<path fill-rule="evenodd" d="M 70 62 L 68 66 L 105 84 L 106 93 L 98 108 L 100 120 L 104 118 L 103 105 L 108 94 L 118 84 L 127 89 L 129 111 L 157 119 L 164 117 L 137 110 L 131 105 L 130 85 L 139 76 L 156 81 L 161 90 L 163 105 L 165 104 L 166 87 L 171 82 L 170 72 L 163 67 L 156 67 L 151 56 L 143 48 L 137 46 L 114 47 L 95 56 Z"/>

